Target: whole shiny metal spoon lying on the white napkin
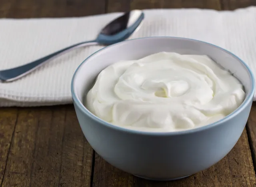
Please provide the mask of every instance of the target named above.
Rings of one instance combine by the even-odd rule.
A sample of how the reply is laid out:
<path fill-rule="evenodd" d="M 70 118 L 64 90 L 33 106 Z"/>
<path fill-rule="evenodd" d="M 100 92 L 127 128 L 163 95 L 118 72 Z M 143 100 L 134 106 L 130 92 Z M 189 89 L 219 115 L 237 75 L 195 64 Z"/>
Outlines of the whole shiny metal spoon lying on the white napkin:
<path fill-rule="evenodd" d="M 122 16 L 112 20 L 112 22 L 107 24 L 100 31 L 95 40 L 74 44 L 49 54 L 48 56 L 40 58 L 34 62 L 30 62 L 16 68 L 0 71 L 0 82 L 11 82 L 17 80 L 34 71 L 36 68 L 42 66 L 43 64 L 49 62 L 50 60 L 60 56 L 61 54 L 79 47 L 96 44 L 107 46 L 126 40 L 138 28 L 143 18 L 144 13 L 141 10 L 132 10 L 130 12 L 126 12 Z"/>

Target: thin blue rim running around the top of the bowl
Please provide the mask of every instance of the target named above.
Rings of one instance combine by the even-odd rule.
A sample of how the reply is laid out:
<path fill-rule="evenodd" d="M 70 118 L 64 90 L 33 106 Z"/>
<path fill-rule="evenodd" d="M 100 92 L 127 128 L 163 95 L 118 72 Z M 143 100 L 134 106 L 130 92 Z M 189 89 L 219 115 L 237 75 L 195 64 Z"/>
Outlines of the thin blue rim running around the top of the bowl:
<path fill-rule="evenodd" d="M 78 99 L 78 96 L 76 94 L 76 91 L 74 90 L 74 80 L 76 77 L 76 73 L 78 72 L 78 70 L 80 69 L 80 66 L 82 66 L 82 64 L 86 63 L 86 61 L 91 58 L 92 56 L 94 56 L 94 54 L 100 52 L 101 50 L 104 50 L 106 48 L 110 48 L 114 45 L 118 45 L 120 43 L 124 43 L 124 42 L 129 42 L 130 40 L 125 40 L 123 42 L 118 42 L 116 44 L 112 44 L 110 46 L 106 46 L 96 52 L 94 52 L 93 54 L 91 54 L 90 56 L 88 56 L 88 58 L 86 58 L 76 69 L 76 71 L 74 72 L 73 78 L 72 78 L 72 82 L 71 82 L 71 94 L 72 94 L 72 98 L 73 98 L 73 102 L 77 104 L 77 106 L 80 108 L 80 110 L 86 114 L 88 117 L 90 117 L 92 120 L 97 121 L 98 123 L 105 125 L 107 127 L 110 127 L 114 130 L 117 131 L 123 131 L 126 133 L 133 133 L 133 134 L 140 134 L 140 135 L 182 135 L 182 134 L 187 134 L 187 133 L 195 133 L 198 131 L 204 131 L 206 129 L 212 128 L 214 126 L 220 125 L 226 121 L 228 121 L 229 119 L 231 119 L 233 116 L 237 115 L 240 111 L 242 111 L 247 105 L 248 103 L 251 101 L 251 99 L 253 99 L 254 96 L 254 92 L 255 92 L 255 81 L 254 81 L 254 76 L 252 74 L 252 71 L 250 70 L 249 66 L 243 61 L 241 60 L 238 56 L 236 56 L 235 54 L 233 54 L 232 52 L 229 52 L 228 50 L 225 50 L 219 46 L 216 46 L 214 44 L 210 44 L 208 42 L 203 42 L 200 40 L 195 40 L 195 39 L 190 39 L 190 38 L 182 38 L 182 37 L 172 37 L 172 36 L 153 36 L 153 37 L 143 37 L 143 38 L 135 38 L 135 39 L 131 39 L 131 40 L 143 40 L 145 38 L 176 38 L 176 39 L 183 39 L 183 40 L 193 40 L 196 42 L 202 42 L 204 44 L 216 47 L 232 56 L 234 56 L 235 58 L 237 58 L 240 62 L 242 62 L 242 64 L 246 67 L 247 71 L 250 74 L 250 78 L 252 80 L 252 87 L 251 87 L 251 92 L 247 93 L 248 95 L 246 96 L 246 98 L 244 99 L 243 103 L 236 109 L 234 110 L 232 113 L 230 113 L 229 115 L 227 115 L 226 117 L 224 117 L 223 119 L 220 119 L 214 123 L 210 123 L 208 125 L 204 125 L 201 127 L 196 127 L 194 129 L 187 129 L 187 130 L 181 130 L 181 131 L 170 131 L 170 132 L 152 132 L 152 131 L 139 131 L 139 130 L 134 130 L 134 129 L 128 129 L 125 127 L 121 127 L 121 126 L 117 126 L 117 125 L 113 125 L 111 123 L 108 123 L 107 121 L 104 121 L 103 119 L 100 119 L 99 117 L 97 117 L 96 115 L 94 115 L 93 113 L 91 113 L 88 109 L 86 109 L 86 107 L 83 105 L 83 103 L 80 101 L 80 99 Z"/>

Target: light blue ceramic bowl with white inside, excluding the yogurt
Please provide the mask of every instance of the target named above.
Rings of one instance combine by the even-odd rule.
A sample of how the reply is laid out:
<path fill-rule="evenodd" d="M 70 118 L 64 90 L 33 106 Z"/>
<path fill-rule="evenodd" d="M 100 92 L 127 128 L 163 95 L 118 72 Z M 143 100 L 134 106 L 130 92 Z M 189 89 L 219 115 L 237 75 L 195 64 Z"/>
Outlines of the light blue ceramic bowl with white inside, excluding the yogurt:
<path fill-rule="evenodd" d="M 136 60 L 163 51 L 208 55 L 240 80 L 245 100 L 224 119 L 175 132 L 125 129 L 103 121 L 84 107 L 85 95 L 101 70 L 120 60 Z M 166 181 L 202 171 L 228 154 L 246 125 L 254 87 L 248 66 L 218 46 L 186 38 L 150 37 L 120 42 L 89 56 L 74 73 L 71 91 L 84 136 L 104 160 L 138 177 Z"/>

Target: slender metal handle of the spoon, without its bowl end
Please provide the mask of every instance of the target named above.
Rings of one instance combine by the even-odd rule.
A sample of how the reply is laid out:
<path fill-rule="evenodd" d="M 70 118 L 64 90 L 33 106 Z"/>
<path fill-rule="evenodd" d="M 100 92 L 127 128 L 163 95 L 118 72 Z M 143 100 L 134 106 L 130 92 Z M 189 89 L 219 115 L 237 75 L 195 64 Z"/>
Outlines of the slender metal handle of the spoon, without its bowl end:
<path fill-rule="evenodd" d="M 34 71 L 36 68 L 42 66 L 43 64 L 46 64 L 50 60 L 66 53 L 66 52 L 69 52 L 70 50 L 73 50 L 75 48 L 79 48 L 82 46 L 89 46 L 89 45 L 96 45 L 96 44 L 98 44 L 96 41 L 81 42 L 81 43 L 69 46 L 67 48 L 64 48 L 62 50 L 59 50 L 57 52 L 54 52 L 48 56 L 45 56 L 38 60 L 35 60 L 34 62 L 25 64 L 23 66 L 18 66 L 16 68 L 12 68 L 12 69 L 8 69 L 8 70 L 2 70 L 2 71 L 0 71 L 0 82 L 11 82 L 11 81 L 17 80 L 17 79 L 29 74 L 30 72 Z"/>

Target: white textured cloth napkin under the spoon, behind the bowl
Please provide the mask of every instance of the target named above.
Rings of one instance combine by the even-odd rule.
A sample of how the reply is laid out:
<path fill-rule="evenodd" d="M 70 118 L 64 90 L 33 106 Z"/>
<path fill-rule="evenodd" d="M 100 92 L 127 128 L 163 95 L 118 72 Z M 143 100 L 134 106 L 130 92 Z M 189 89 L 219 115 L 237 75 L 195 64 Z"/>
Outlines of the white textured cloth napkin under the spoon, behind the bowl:
<path fill-rule="evenodd" d="M 93 40 L 106 23 L 119 15 L 0 19 L 0 70 L 26 64 L 77 42 Z M 145 10 L 143 25 L 131 38 L 144 36 L 179 36 L 216 44 L 242 58 L 256 75 L 256 7 L 220 12 Z M 74 71 L 100 48 L 74 50 L 16 82 L 0 83 L 0 106 L 72 103 L 70 83 Z"/>

